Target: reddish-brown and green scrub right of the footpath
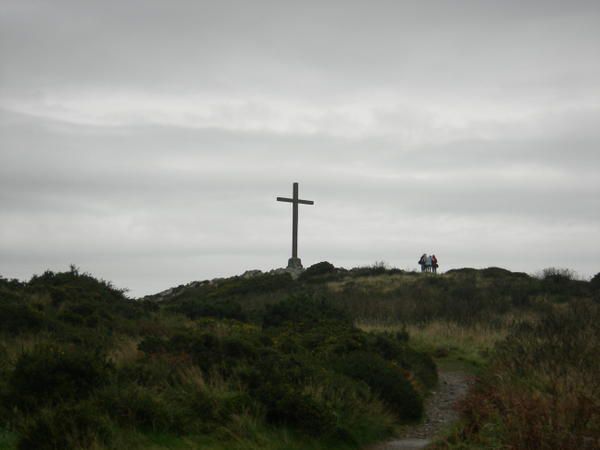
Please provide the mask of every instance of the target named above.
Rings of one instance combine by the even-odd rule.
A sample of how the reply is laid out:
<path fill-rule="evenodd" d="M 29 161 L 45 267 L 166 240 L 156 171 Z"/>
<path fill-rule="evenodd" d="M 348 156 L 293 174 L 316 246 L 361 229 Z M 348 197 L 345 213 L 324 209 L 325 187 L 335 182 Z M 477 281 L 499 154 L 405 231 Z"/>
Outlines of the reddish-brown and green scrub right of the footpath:
<path fill-rule="evenodd" d="M 463 405 L 465 423 L 439 448 L 600 445 L 600 308 L 571 303 L 500 344 Z"/>

